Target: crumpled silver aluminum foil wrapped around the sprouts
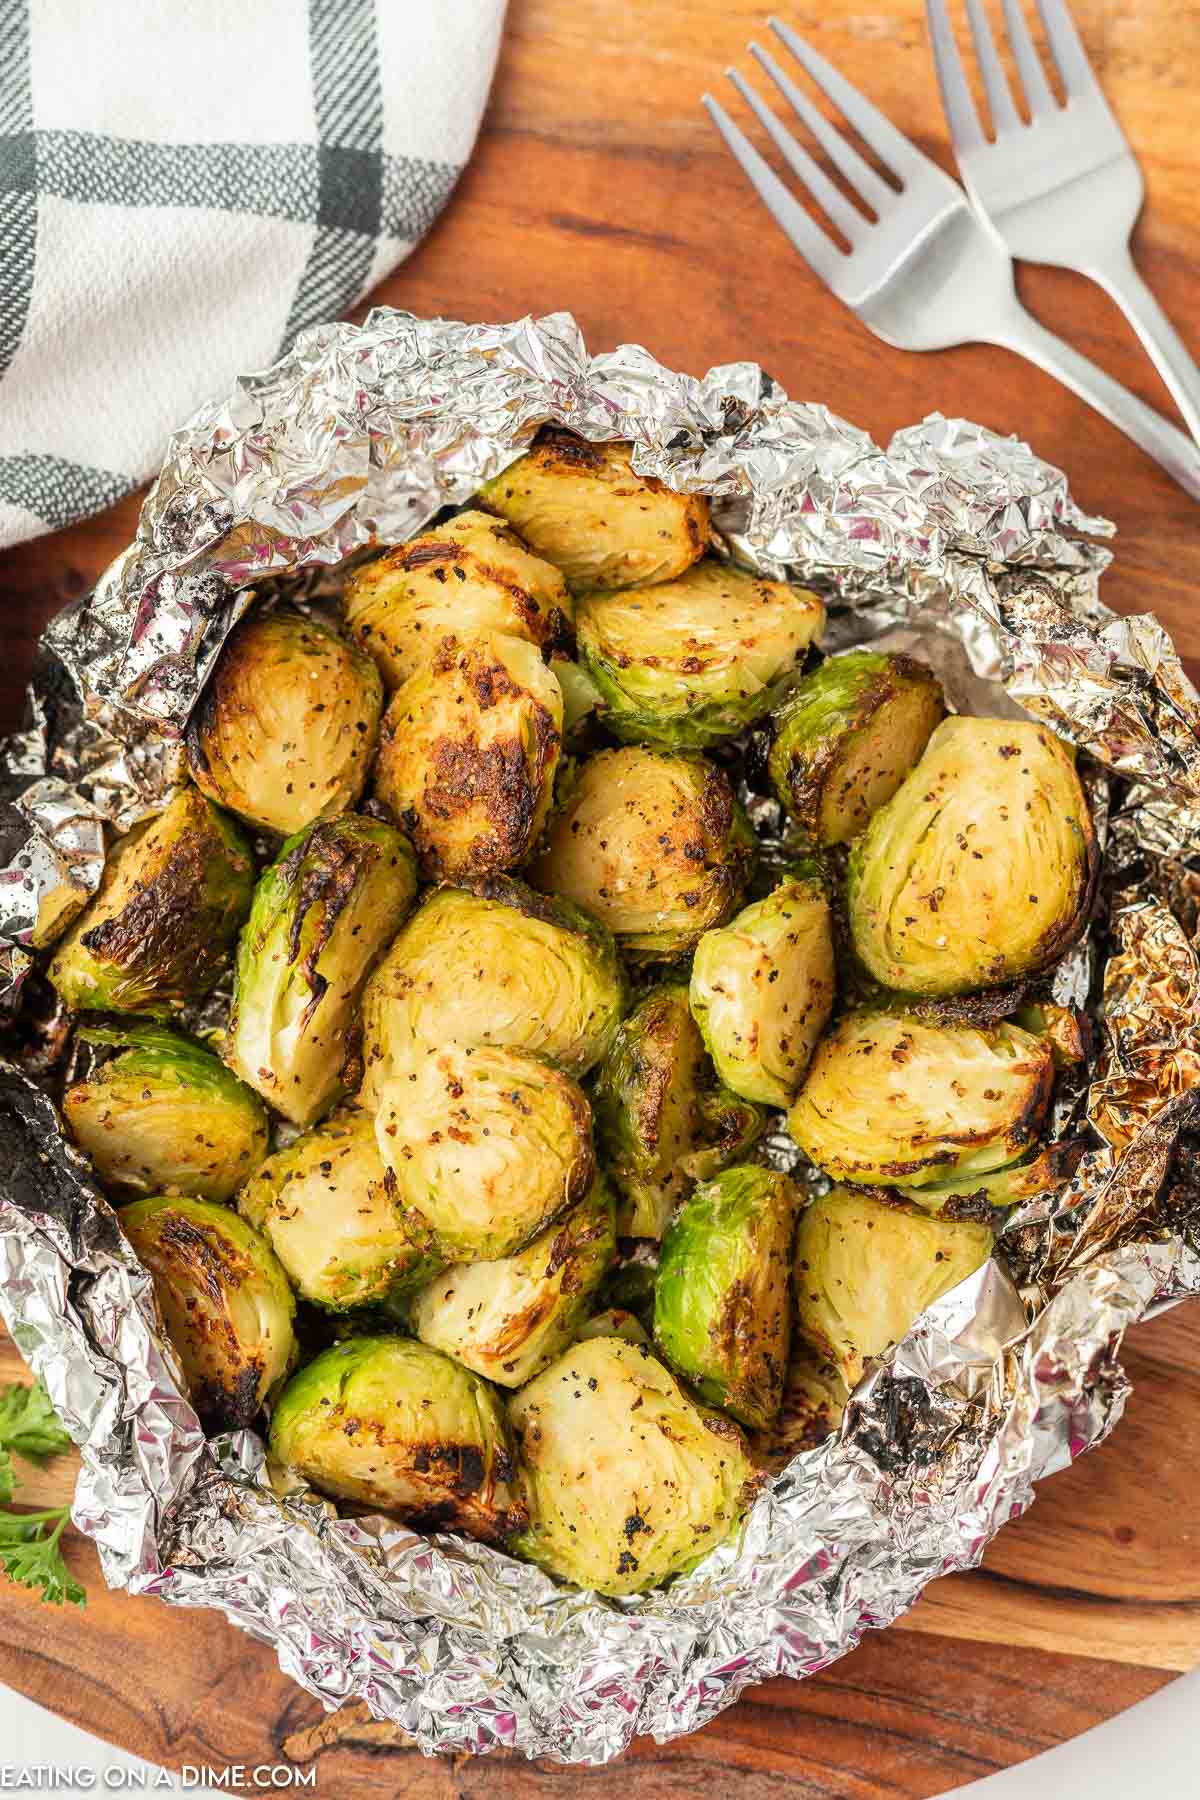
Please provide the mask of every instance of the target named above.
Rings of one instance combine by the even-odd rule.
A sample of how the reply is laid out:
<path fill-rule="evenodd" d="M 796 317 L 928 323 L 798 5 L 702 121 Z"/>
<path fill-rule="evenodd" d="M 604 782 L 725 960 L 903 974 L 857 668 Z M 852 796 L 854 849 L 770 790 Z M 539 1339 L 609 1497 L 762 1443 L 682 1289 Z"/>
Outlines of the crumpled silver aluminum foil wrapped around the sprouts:
<path fill-rule="evenodd" d="M 1157 621 L 1099 599 L 1112 527 L 1015 439 L 934 416 L 880 450 L 754 364 L 693 380 L 637 346 L 588 356 L 567 315 L 378 311 L 306 333 L 178 432 L 137 540 L 50 625 L 29 729 L 0 752 L 11 999 L 94 891 L 104 828 L 164 803 L 252 589 L 327 594 L 347 556 L 468 500 L 545 421 L 630 437 L 639 468 L 711 493 L 736 554 L 828 592 L 833 644 L 914 648 L 957 707 L 1024 709 L 1085 752 L 1103 911 L 1052 983 L 1097 1019 L 1094 1066 L 1061 1084 L 1061 1118 L 1090 1127 L 1074 1181 L 1022 1208 L 1004 1262 L 918 1321 L 738 1539 L 622 1602 L 338 1517 L 252 1433 L 205 1444 L 146 1273 L 14 1066 L 0 1307 L 81 1444 L 74 1516 L 113 1586 L 219 1607 L 309 1694 L 363 1699 L 425 1751 L 603 1762 L 766 1676 L 828 1667 L 977 1562 L 1121 1417 L 1124 1328 L 1200 1292 L 1200 707 Z"/>

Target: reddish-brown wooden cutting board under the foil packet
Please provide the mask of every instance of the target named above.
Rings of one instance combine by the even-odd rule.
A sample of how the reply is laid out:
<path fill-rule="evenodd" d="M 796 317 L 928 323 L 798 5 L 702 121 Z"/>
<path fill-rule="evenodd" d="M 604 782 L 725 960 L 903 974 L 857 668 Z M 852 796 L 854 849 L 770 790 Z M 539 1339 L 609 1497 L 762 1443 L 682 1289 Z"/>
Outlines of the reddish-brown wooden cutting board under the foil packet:
<path fill-rule="evenodd" d="M 1187 333 L 1200 243 L 1193 95 L 1200 13 L 1173 0 L 1072 0 L 1087 49 L 1146 173 L 1142 274 Z M 919 0 L 822 0 L 788 18 L 946 167 Z M 1106 601 L 1153 610 L 1200 661 L 1200 515 L 1141 452 L 1049 378 L 1000 351 L 909 356 L 876 344 L 797 263 L 718 149 L 698 95 L 745 67 L 763 11 L 748 0 L 511 0 L 479 153 L 421 250 L 374 295 L 417 313 L 511 319 L 570 308 L 592 347 L 648 344 L 696 374 L 759 360 L 878 441 L 941 410 L 1018 432 L 1070 470 L 1076 497 L 1119 526 Z M 1022 270 L 1045 324 L 1166 405 L 1132 331 L 1087 283 Z M 1193 331 L 1193 349 L 1200 338 Z M 137 499 L 0 556 L 13 724 L 41 623 L 128 542 Z M 1193 675 L 1196 673 L 1193 661 Z M 774 1681 L 678 1744 L 639 1744 L 604 1771 L 423 1762 L 347 1708 L 326 1719 L 273 1654 L 209 1613 L 108 1595 L 88 1544 L 70 1559 L 88 1609 L 58 1613 L 0 1586 L 0 1681 L 153 1760 L 320 1762 L 333 1795 L 504 1800 L 711 1784 L 766 1800 L 918 1796 L 1006 1768 L 1097 1724 L 1200 1658 L 1200 1312 L 1126 1345 L 1126 1420 L 1049 1481 L 981 1571 L 937 1582 L 916 1611 L 824 1676 Z M 0 1381 L 20 1372 L 0 1339 Z M 25 1490 L 67 1498 L 70 1465 Z"/>

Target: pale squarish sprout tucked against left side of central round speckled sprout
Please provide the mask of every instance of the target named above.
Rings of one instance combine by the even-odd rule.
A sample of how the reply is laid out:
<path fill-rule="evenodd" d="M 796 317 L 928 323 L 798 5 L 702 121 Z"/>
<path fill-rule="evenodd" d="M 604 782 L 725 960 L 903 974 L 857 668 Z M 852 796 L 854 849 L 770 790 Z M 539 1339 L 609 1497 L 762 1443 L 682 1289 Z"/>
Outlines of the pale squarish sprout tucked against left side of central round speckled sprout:
<path fill-rule="evenodd" d="M 365 1112 L 335 1114 L 277 1150 L 241 1190 L 237 1210 L 295 1291 L 335 1312 L 380 1305 L 441 1267 L 428 1231 L 396 1199 Z"/>

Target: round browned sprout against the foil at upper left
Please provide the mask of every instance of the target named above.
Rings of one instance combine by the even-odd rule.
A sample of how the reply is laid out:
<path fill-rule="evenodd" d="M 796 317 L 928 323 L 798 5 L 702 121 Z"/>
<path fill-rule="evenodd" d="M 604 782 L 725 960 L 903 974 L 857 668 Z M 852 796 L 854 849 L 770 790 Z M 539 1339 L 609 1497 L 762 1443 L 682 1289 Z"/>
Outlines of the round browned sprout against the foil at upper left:
<path fill-rule="evenodd" d="M 291 837 L 356 803 L 381 711 L 371 657 L 299 612 L 252 612 L 187 724 L 193 779 L 250 824 Z"/>

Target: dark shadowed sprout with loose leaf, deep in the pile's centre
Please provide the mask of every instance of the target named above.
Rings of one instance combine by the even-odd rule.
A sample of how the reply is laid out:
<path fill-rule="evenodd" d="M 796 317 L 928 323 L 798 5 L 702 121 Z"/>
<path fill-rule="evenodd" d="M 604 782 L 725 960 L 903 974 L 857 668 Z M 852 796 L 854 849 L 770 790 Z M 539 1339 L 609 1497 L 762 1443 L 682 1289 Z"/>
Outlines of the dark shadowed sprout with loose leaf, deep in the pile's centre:
<path fill-rule="evenodd" d="M 662 1237 L 694 1181 L 761 1136 L 761 1111 L 712 1091 L 687 988 L 664 981 L 633 1008 L 592 1093 L 596 1141 L 621 1190 L 621 1237 Z"/>

